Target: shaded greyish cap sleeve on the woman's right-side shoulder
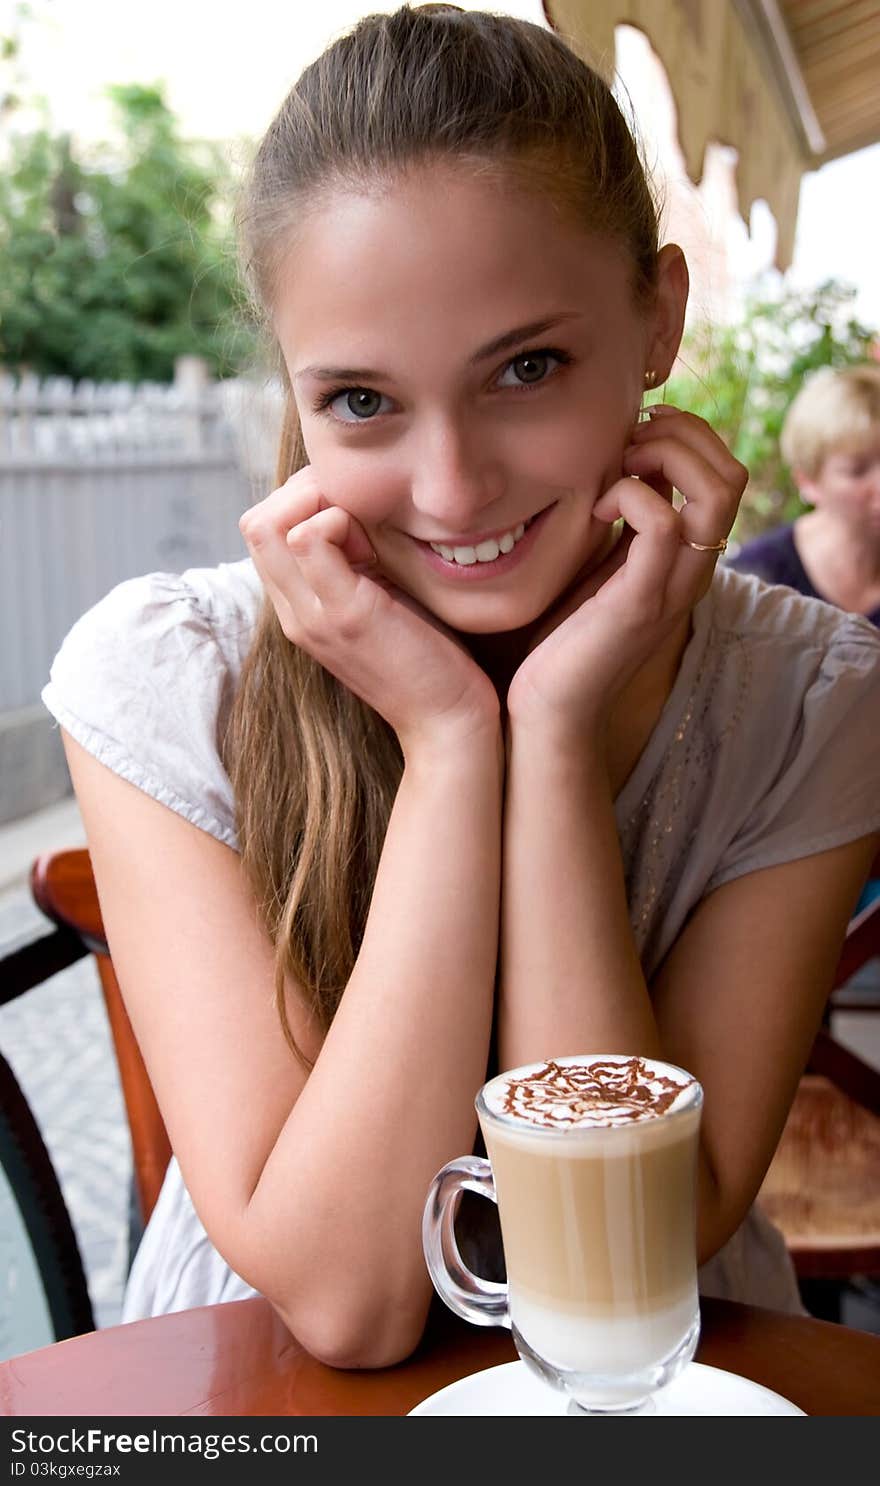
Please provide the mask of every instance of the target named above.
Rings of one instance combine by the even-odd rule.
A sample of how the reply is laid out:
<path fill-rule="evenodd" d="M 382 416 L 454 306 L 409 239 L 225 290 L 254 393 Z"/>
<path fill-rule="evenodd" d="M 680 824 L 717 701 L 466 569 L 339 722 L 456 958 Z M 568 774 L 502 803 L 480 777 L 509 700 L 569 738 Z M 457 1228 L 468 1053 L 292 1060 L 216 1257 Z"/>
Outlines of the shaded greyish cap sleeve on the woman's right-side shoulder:
<path fill-rule="evenodd" d="M 786 681 L 797 685 L 797 669 Z M 773 700 L 767 698 L 769 709 Z M 774 727 L 771 715 L 766 727 Z M 764 866 L 880 831 L 880 637 L 858 615 L 835 627 L 807 681 L 782 767 L 724 853 L 706 892 Z"/>

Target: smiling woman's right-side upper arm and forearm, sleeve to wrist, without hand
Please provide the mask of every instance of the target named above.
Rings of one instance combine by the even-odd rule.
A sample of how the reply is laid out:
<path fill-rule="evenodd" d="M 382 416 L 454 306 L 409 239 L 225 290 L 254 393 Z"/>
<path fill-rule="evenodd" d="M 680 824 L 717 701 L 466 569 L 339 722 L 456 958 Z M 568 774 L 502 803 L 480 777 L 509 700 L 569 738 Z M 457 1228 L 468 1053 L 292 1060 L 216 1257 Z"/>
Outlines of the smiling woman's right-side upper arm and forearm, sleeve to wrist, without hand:
<path fill-rule="evenodd" d="M 648 990 L 599 749 L 565 752 L 511 728 L 501 1065 L 627 1052 L 693 1073 L 705 1091 L 700 1263 L 761 1186 L 876 849 L 864 838 L 719 887 Z"/>

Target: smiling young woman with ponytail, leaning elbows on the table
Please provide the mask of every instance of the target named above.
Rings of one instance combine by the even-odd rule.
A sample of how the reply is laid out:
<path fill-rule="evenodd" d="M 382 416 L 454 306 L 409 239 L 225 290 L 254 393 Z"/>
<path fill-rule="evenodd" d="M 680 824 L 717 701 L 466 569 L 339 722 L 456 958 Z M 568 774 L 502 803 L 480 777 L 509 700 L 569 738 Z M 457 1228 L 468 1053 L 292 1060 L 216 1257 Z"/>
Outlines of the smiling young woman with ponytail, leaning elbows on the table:
<path fill-rule="evenodd" d="M 369 16 L 241 220 L 278 489 L 43 692 L 174 1150 L 125 1320 L 259 1291 L 404 1357 L 479 1085 L 566 1052 L 700 1079 L 703 1293 L 797 1308 L 754 1199 L 880 832 L 880 639 L 718 568 L 746 471 L 639 416 L 687 269 L 608 85 L 507 16 Z"/>

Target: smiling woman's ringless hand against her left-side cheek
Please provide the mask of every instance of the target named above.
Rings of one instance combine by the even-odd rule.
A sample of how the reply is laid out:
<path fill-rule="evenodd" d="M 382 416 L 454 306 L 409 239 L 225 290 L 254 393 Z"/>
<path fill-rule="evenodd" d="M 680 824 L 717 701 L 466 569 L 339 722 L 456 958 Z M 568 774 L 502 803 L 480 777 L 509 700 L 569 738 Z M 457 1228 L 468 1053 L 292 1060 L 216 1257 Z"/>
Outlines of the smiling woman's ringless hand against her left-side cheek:
<path fill-rule="evenodd" d="M 434 615 L 385 580 L 311 467 L 239 522 L 281 629 L 394 728 L 404 758 L 498 728 L 495 688 Z"/>

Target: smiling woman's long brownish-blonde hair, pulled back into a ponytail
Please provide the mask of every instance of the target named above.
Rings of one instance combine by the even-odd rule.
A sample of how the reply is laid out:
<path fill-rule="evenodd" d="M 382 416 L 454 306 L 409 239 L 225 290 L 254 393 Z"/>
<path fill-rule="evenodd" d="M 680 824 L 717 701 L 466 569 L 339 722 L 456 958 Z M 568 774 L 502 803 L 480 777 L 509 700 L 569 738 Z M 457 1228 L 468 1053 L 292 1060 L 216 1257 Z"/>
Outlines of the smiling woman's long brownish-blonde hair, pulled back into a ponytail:
<path fill-rule="evenodd" d="M 636 302 L 656 288 L 657 208 L 608 85 L 557 36 L 455 6 L 372 15 L 334 42 L 284 100 L 239 210 L 242 269 L 265 319 L 306 210 L 436 159 L 522 171 L 534 189 L 620 241 Z M 306 464 L 290 386 L 276 468 Z M 266 599 L 223 740 L 242 866 L 285 976 L 327 1028 L 364 933 L 403 773 L 372 707 L 284 636 Z"/>

